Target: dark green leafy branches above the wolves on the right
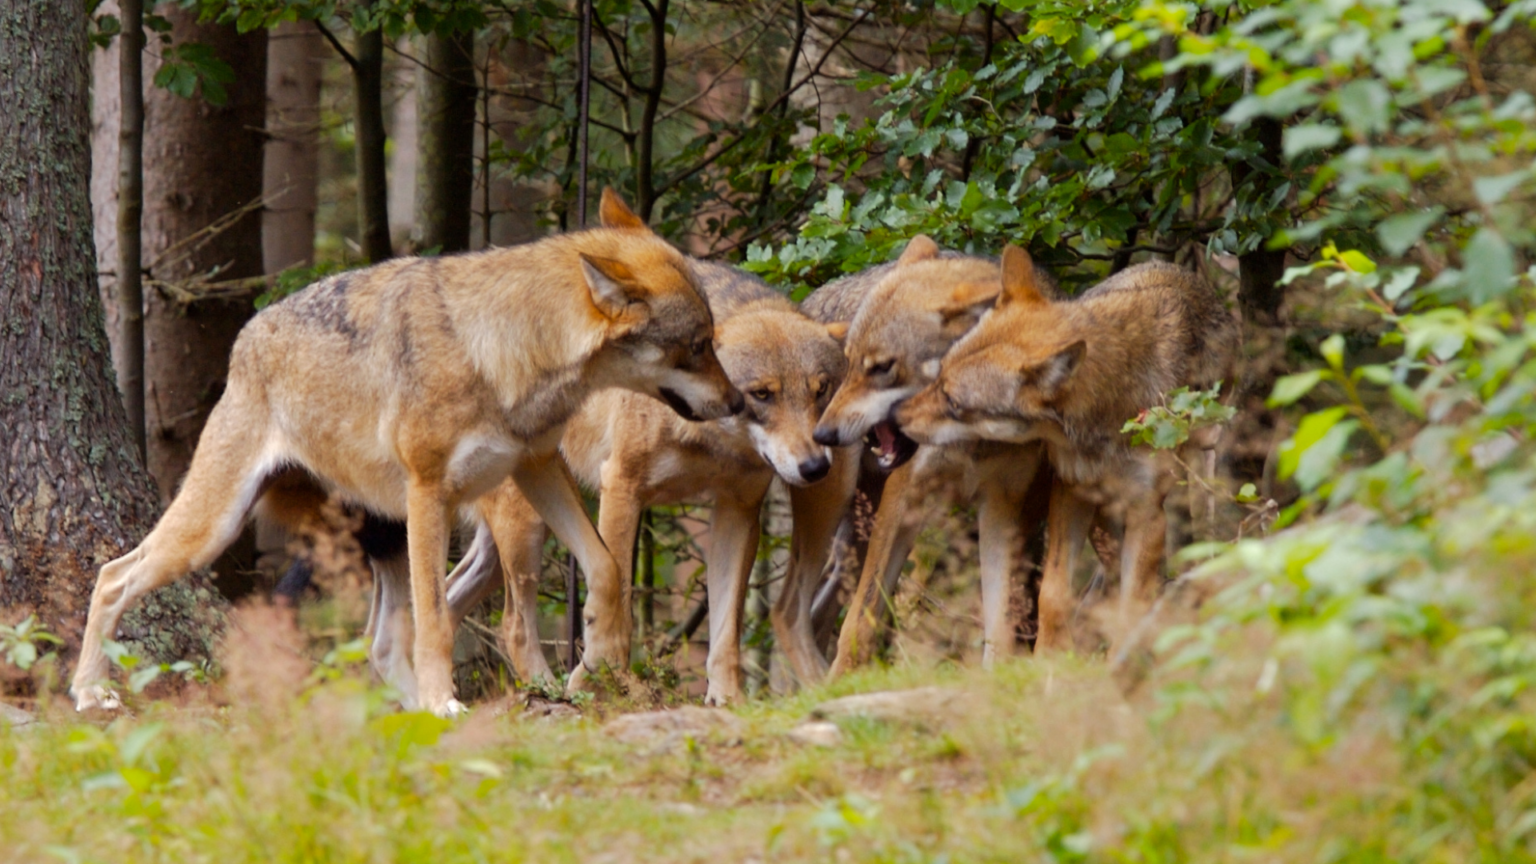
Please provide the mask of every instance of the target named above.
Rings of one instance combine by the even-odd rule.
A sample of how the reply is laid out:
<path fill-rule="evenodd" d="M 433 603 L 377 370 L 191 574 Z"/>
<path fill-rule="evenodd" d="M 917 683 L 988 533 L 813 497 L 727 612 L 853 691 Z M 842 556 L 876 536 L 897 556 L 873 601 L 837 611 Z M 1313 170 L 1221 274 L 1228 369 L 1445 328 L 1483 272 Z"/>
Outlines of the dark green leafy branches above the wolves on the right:
<path fill-rule="evenodd" d="M 826 191 L 797 238 L 753 246 L 746 266 L 816 284 L 885 261 L 922 232 L 982 254 L 1023 243 L 1084 281 L 1103 275 L 1084 263 L 1189 241 L 1246 252 L 1284 224 L 1276 204 L 1289 181 L 1217 121 L 1238 88 L 1141 75 L 1150 51 L 1104 57 L 1101 43 L 1137 3 L 1023 6 L 1028 32 L 1000 43 L 991 63 L 957 55 L 865 77 L 862 88 L 886 91 L 886 111 L 839 120 L 773 166 L 776 183 Z M 1252 171 L 1224 206 L 1204 188 L 1233 164 Z"/>

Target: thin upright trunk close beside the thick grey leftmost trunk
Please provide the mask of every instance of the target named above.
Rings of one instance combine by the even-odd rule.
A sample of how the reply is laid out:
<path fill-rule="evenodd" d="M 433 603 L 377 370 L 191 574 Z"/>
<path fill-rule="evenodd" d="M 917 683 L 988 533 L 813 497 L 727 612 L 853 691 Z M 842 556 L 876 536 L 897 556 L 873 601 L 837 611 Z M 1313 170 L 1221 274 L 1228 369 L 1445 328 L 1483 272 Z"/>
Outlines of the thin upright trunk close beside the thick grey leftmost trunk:
<path fill-rule="evenodd" d="M 117 386 L 127 409 L 127 432 L 138 458 L 144 444 L 144 5 L 121 0 L 118 100 L 121 131 L 117 155 L 117 307 L 121 315 L 121 366 Z"/>

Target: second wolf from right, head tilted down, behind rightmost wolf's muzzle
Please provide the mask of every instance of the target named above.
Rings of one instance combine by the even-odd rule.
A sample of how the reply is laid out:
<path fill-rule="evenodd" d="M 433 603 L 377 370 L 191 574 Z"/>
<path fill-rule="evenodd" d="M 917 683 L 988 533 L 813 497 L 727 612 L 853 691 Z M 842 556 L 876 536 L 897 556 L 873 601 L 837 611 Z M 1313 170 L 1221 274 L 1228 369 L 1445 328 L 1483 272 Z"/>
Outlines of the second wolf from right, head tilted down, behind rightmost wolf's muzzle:
<path fill-rule="evenodd" d="M 1041 272 L 1038 280 L 1046 284 L 1049 277 Z M 919 235 L 892 264 L 826 284 L 805 301 L 813 317 L 849 324 L 848 374 L 817 423 L 816 440 L 837 447 L 866 440 L 859 487 L 879 500 L 831 675 L 868 660 L 882 598 L 895 587 L 928 501 L 945 489 L 958 487 L 978 500 L 983 664 L 1012 647 L 1006 596 L 1025 532 L 1034 524 L 1026 495 L 1049 489 L 1032 483 L 1043 463 L 1040 446 L 919 447 L 894 421 L 895 407 L 928 386 L 940 358 L 995 304 L 1000 291 L 995 260 L 940 251 Z M 1043 513 L 1044 503 L 1032 509 Z"/>

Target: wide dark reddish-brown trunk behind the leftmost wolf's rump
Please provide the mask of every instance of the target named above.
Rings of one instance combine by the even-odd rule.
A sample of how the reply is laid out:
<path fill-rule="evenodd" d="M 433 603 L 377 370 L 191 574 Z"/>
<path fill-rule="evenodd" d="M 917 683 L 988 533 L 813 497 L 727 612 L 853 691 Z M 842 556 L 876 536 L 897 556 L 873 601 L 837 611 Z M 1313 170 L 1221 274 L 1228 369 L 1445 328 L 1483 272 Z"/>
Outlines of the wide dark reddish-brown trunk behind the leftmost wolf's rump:
<path fill-rule="evenodd" d="M 261 275 L 261 218 L 255 212 L 187 249 L 166 252 L 261 198 L 266 31 L 238 34 L 227 25 L 200 25 L 195 11 L 172 5 L 163 5 L 160 14 L 174 23 L 177 43 L 210 46 L 235 69 L 235 80 L 223 108 L 160 88 L 144 100 L 144 260 L 155 280 L 169 283 L 215 268 L 220 280 Z M 146 295 L 149 472 L 160 484 L 160 500 L 169 503 L 224 392 L 229 351 L 253 307 L 249 298 L 181 303 L 163 291 Z"/>

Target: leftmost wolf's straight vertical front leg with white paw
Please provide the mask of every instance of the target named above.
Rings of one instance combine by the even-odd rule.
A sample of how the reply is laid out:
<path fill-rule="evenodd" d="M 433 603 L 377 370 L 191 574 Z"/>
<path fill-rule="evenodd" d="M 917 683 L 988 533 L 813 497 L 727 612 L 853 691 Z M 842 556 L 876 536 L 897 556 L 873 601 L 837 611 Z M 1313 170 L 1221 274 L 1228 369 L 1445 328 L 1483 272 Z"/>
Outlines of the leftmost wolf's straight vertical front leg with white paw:
<path fill-rule="evenodd" d="M 441 483 L 412 478 L 406 492 L 410 596 L 416 624 L 416 696 L 438 716 L 464 713 L 453 698 L 453 616 L 444 596 L 449 557 L 449 503 Z"/>

